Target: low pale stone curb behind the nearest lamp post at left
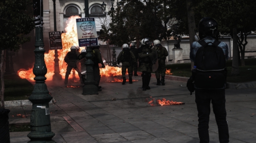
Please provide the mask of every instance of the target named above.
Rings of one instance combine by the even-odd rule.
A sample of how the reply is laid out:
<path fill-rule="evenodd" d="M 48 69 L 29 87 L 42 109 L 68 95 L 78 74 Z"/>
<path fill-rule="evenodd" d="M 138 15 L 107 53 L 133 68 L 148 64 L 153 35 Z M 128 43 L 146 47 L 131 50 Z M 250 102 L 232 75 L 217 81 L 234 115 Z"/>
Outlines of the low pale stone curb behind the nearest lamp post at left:
<path fill-rule="evenodd" d="M 49 104 L 54 104 L 54 98 L 49 102 Z M 18 106 L 32 106 L 32 102 L 29 100 L 13 100 L 4 101 L 5 107 L 18 107 Z"/>

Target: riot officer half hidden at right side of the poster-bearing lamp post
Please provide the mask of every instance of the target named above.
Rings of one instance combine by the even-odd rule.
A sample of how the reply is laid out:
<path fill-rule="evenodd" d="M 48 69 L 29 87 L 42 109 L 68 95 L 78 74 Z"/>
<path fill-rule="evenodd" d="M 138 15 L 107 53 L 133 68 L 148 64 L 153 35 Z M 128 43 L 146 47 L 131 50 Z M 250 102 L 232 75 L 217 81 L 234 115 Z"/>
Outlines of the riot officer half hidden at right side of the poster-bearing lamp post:
<path fill-rule="evenodd" d="M 95 80 L 95 85 L 98 87 L 98 91 L 102 91 L 99 86 L 100 84 L 100 68 L 98 64 L 100 63 L 102 65 L 102 68 L 105 68 L 105 65 L 102 61 L 101 53 L 100 53 L 100 43 L 98 42 L 97 46 L 93 46 L 93 51 L 91 54 L 93 55 L 92 61 L 93 61 L 93 75 L 94 75 L 94 80 Z"/>

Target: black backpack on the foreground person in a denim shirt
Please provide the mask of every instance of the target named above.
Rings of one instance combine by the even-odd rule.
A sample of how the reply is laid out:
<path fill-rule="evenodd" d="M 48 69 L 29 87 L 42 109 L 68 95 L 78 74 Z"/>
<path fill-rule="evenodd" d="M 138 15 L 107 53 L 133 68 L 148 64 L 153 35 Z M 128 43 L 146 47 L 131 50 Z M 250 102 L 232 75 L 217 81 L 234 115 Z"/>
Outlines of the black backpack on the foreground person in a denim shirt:
<path fill-rule="evenodd" d="M 218 47 L 219 41 L 198 42 L 202 46 L 197 50 L 195 57 L 196 70 L 192 76 L 197 89 L 224 89 L 226 83 L 226 58 L 223 49 Z M 212 45 L 208 45 L 208 44 Z"/>

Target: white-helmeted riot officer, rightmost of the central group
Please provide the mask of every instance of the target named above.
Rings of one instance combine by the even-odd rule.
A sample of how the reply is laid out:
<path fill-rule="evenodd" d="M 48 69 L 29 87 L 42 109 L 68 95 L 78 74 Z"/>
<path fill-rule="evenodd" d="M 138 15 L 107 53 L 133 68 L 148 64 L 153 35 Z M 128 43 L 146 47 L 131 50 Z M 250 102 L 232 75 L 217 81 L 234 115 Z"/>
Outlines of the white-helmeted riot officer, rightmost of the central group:
<path fill-rule="evenodd" d="M 156 70 L 156 85 L 165 85 L 165 59 L 168 56 L 168 51 L 165 47 L 163 47 L 160 44 L 160 40 L 154 40 L 154 46 L 156 48 L 156 53 L 158 57 L 158 69 Z M 161 75 L 161 81 L 160 81 L 160 75 Z"/>

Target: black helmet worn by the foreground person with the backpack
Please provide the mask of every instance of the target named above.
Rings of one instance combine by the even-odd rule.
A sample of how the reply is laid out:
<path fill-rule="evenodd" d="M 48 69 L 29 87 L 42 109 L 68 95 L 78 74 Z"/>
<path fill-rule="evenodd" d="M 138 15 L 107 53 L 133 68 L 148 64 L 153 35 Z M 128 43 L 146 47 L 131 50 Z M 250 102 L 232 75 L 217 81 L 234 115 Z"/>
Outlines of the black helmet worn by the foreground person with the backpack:
<path fill-rule="evenodd" d="M 198 24 L 198 35 L 200 39 L 207 36 L 215 38 L 218 31 L 218 24 L 215 19 L 210 17 L 204 17 Z"/>

